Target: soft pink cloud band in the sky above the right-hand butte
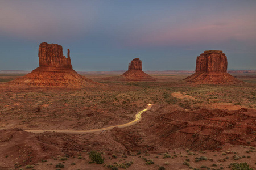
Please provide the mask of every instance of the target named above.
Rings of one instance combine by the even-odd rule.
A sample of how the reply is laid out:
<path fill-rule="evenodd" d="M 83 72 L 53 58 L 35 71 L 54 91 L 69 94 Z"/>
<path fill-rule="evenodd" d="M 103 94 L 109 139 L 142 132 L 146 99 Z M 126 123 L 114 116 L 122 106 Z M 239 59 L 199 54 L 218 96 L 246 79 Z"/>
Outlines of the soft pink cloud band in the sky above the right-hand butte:
<path fill-rule="evenodd" d="M 162 46 L 220 43 L 229 39 L 252 40 L 256 38 L 256 23 L 251 21 L 254 21 L 253 16 L 239 16 L 233 19 L 201 20 L 168 25 L 166 28 L 169 29 L 155 29 L 155 31 L 145 31 L 141 35 L 136 35 L 136 42 L 132 39 L 127 44 L 132 44 L 132 46 Z"/>

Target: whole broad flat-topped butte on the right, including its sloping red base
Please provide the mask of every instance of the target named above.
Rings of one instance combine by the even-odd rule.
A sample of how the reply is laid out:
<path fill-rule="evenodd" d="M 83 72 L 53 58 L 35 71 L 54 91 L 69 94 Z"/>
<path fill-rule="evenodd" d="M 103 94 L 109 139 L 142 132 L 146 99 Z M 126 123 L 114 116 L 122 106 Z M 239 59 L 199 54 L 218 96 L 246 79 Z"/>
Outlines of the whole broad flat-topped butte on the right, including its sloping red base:
<path fill-rule="evenodd" d="M 240 84 L 226 72 L 228 60 L 220 50 L 208 50 L 196 58 L 196 73 L 184 80 L 191 84 Z"/>

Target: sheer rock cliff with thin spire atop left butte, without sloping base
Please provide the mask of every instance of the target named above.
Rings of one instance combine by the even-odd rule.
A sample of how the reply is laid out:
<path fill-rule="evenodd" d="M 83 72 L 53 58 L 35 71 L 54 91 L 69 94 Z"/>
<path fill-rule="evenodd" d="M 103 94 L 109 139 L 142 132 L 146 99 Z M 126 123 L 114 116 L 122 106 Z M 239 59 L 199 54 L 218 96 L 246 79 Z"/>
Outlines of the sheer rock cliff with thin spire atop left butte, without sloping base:
<path fill-rule="evenodd" d="M 39 66 L 53 66 L 72 69 L 69 53 L 70 51 L 68 49 L 68 58 L 66 58 L 63 56 L 61 45 L 42 42 L 39 45 L 38 50 Z"/>

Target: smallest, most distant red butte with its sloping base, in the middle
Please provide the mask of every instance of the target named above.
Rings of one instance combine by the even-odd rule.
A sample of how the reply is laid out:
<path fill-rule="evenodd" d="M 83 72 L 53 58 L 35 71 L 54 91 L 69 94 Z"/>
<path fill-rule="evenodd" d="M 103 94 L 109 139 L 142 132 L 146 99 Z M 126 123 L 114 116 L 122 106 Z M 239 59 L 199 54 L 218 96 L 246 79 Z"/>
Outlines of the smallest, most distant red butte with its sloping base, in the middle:
<path fill-rule="evenodd" d="M 131 61 L 128 64 L 128 71 L 123 73 L 121 77 L 125 78 L 126 81 L 155 81 L 155 78 L 152 78 L 152 76 L 144 73 L 142 71 L 142 62 L 139 58 L 134 58 L 133 61 Z"/>

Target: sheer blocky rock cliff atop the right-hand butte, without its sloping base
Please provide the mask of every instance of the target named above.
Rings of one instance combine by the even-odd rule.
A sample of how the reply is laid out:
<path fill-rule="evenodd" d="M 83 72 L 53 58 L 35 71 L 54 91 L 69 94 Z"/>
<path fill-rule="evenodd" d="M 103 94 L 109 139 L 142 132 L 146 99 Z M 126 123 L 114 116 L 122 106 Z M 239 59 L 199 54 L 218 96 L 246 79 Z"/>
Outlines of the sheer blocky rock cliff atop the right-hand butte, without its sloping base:
<path fill-rule="evenodd" d="M 222 51 L 209 50 L 204 51 L 196 58 L 197 72 L 225 72 L 228 67 L 228 60 Z"/>

